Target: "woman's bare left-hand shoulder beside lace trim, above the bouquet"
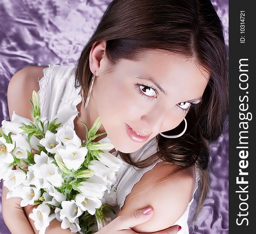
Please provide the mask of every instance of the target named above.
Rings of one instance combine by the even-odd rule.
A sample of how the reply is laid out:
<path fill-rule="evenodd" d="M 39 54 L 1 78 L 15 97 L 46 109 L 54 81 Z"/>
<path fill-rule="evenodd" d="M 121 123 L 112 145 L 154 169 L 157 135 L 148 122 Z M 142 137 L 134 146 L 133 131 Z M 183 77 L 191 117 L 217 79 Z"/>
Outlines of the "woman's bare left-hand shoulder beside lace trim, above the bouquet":
<path fill-rule="evenodd" d="M 29 99 L 32 99 L 32 92 L 38 92 L 39 83 L 43 77 L 43 69 L 48 66 L 27 66 L 17 71 L 11 78 L 7 89 L 7 102 L 9 116 L 13 110 L 18 115 L 31 119 L 29 110 L 32 110 Z"/>

